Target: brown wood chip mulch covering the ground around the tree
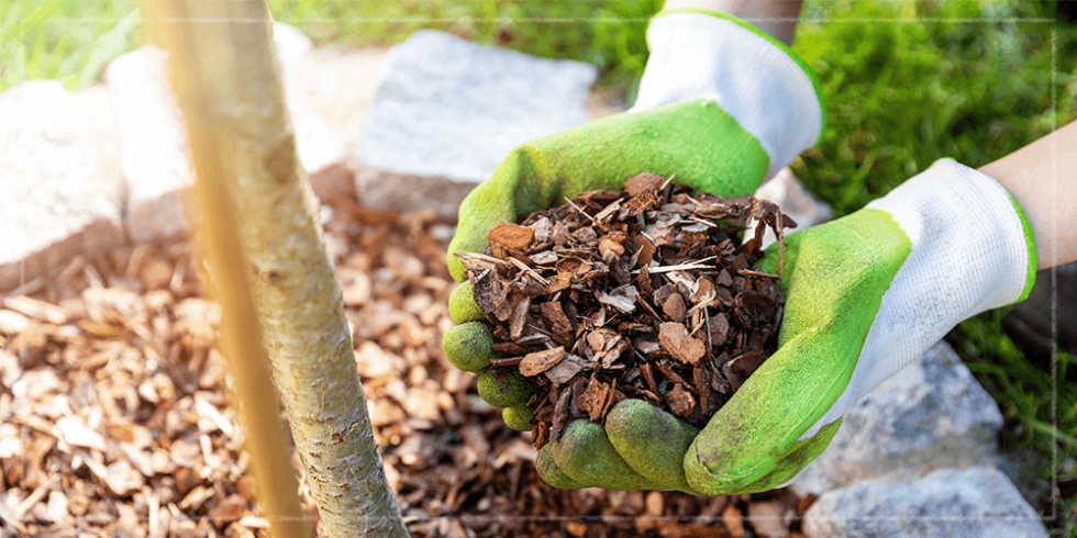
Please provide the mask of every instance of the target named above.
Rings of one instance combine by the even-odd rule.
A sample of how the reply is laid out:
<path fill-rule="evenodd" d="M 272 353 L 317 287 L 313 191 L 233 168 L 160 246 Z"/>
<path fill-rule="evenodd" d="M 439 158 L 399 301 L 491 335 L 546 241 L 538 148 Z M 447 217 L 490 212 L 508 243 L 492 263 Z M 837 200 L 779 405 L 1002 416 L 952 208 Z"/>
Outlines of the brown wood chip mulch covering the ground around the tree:
<path fill-rule="evenodd" d="M 356 361 L 412 536 L 799 536 L 810 500 L 785 490 L 547 486 L 530 434 L 442 355 L 451 228 L 344 201 L 332 214 Z M 211 346 L 218 318 L 189 242 L 75 258 L 0 298 L 0 537 L 264 536 Z"/>

